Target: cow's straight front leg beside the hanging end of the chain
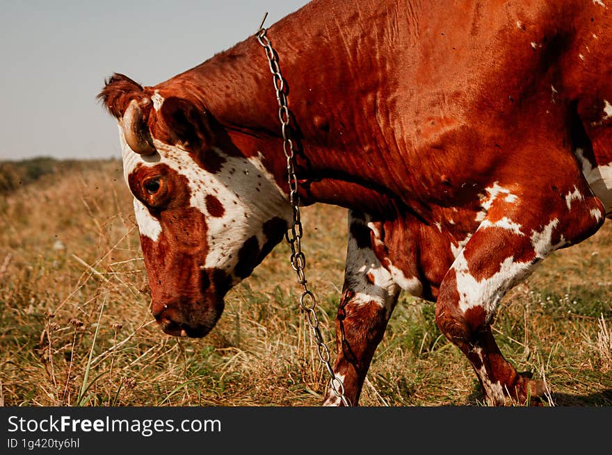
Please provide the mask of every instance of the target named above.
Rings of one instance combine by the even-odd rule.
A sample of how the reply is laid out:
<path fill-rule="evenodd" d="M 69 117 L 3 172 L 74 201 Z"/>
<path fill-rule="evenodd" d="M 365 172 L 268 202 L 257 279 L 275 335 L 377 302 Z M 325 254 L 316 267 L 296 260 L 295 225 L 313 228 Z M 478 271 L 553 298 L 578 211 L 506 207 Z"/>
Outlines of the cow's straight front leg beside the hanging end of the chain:
<path fill-rule="evenodd" d="M 359 402 L 362 386 L 378 343 L 397 302 L 399 288 L 380 264 L 372 244 L 376 235 L 366 216 L 349 211 L 344 286 L 336 317 L 336 376 L 344 383 L 349 404 Z M 328 390 L 325 406 L 341 405 Z"/>

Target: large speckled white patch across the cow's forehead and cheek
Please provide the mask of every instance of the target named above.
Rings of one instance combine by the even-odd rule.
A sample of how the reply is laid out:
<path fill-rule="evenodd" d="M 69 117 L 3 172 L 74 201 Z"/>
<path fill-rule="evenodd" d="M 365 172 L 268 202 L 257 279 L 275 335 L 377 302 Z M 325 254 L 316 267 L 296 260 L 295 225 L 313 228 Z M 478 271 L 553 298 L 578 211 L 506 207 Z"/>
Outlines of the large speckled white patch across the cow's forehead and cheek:
<path fill-rule="evenodd" d="M 273 217 L 291 220 L 291 207 L 287 197 L 273 177 L 257 157 L 243 158 L 227 156 L 220 149 L 212 149 L 225 160 L 216 173 L 207 172 L 195 163 L 188 152 L 180 147 L 170 146 L 154 139 L 158 153 L 141 156 L 134 153 L 124 140 L 120 128 L 120 142 L 123 149 L 123 167 L 126 182 L 136 166 L 152 167 L 168 165 L 178 174 L 185 176 L 191 190 L 190 205 L 197 208 L 207 218 L 207 242 L 209 253 L 204 267 L 233 270 L 238 262 L 238 251 L 245 240 L 256 236 L 259 247 L 266 242 L 261 226 Z M 213 217 L 206 206 L 207 195 L 213 195 L 223 206 L 221 217 Z M 142 205 L 142 204 L 141 204 Z M 144 213 L 147 210 L 142 210 Z M 138 227 L 155 238 L 161 233 L 152 227 L 150 219 L 142 213 L 138 217 Z M 141 225 L 140 223 L 143 223 Z M 158 223 L 159 225 L 159 223 Z"/>

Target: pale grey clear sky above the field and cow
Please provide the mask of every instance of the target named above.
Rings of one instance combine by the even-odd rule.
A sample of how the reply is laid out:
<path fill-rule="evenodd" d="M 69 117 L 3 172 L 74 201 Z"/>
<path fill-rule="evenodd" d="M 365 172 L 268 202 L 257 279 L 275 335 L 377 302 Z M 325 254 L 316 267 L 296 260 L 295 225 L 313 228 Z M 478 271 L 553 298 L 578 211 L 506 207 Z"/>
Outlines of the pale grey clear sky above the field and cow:
<path fill-rule="evenodd" d="M 307 0 L 1 0 L 0 161 L 120 158 L 104 79 L 143 85 L 199 65 Z"/>

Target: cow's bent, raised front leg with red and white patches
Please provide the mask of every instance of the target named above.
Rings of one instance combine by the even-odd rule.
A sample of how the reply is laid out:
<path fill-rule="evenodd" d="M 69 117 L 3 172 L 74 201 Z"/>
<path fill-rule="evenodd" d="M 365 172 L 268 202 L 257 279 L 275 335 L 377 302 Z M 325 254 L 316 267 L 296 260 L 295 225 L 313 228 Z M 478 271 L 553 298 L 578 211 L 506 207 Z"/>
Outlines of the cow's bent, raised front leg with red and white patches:
<path fill-rule="evenodd" d="M 488 215 L 440 286 L 437 325 L 472 363 L 490 405 L 537 405 L 545 393 L 542 381 L 517 372 L 497 347 L 491 324 L 500 299 L 551 251 L 581 241 L 603 222 L 603 206 L 588 188 L 577 181 L 556 190 L 561 183 L 531 193 L 488 188 Z"/>

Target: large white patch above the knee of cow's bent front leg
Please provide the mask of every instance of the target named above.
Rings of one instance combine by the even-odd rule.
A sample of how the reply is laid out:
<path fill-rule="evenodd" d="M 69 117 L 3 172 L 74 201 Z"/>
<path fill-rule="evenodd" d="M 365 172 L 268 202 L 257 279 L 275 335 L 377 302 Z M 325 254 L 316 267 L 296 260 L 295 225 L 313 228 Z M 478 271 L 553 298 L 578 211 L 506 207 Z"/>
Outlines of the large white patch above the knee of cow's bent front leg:
<path fill-rule="evenodd" d="M 493 315 L 497 304 L 506 292 L 533 272 L 539 260 L 545 258 L 550 251 L 558 249 L 565 244 L 561 242 L 552 245 L 552 231 L 558 225 L 558 220 L 551 220 L 542 231 L 531 231 L 531 246 L 536 253 L 538 261 L 515 261 L 514 256 L 508 256 L 499 263 L 499 271 L 492 276 L 478 281 L 469 271 L 465 258 L 465 249 L 458 254 L 453 263 L 456 272 L 457 291 L 459 293 L 459 308 L 467 311 L 469 308 L 481 306 L 487 315 Z"/>

